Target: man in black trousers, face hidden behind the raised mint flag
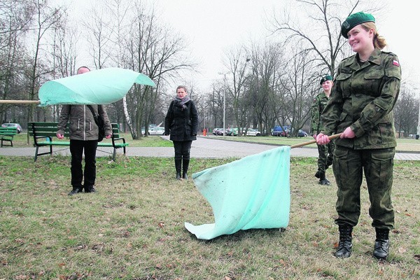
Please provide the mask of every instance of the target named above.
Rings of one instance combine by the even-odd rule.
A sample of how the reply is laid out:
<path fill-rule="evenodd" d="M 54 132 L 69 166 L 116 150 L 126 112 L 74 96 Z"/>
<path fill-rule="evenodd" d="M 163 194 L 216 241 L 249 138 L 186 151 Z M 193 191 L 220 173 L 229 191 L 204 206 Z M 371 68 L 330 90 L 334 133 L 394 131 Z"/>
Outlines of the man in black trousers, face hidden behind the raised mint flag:
<path fill-rule="evenodd" d="M 82 66 L 77 70 L 78 74 L 89 72 L 90 69 Z M 112 128 L 108 115 L 102 105 L 63 105 L 59 115 L 57 138 L 63 139 L 67 123 L 70 130 L 70 153 L 71 153 L 71 186 L 73 189 L 69 195 L 81 193 L 94 193 L 96 180 L 96 151 L 98 146 L 99 128 L 94 121 L 92 111 L 104 120 L 105 137 L 111 138 Z M 85 172 L 82 170 L 82 158 L 85 154 Z M 84 179 L 84 180 L 83 180 Z M 83 183 L 82 183 L 83 181 Z"/>

